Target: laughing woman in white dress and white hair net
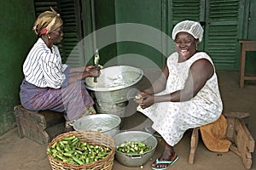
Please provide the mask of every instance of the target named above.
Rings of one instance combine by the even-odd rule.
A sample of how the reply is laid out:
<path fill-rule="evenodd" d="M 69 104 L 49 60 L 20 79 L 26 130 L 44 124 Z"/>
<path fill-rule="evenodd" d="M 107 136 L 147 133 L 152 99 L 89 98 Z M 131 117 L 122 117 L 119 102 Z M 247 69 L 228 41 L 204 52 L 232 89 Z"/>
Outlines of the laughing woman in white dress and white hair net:
<path fill-rule="evenodd" d="M 152 164 L 167 169 L 177 161 L 173 146 L 189 128 L 216 122 L 223 111 L 218 77 L 212 59 L 197 50 L 203 37 L 198 22 L 184 20 L 172 31 L 177 52 L 171 54 L 158 81 L 135 99 L 137 110 L 148 116 L 152 128 L 165 140 L 165 150 Z"/>

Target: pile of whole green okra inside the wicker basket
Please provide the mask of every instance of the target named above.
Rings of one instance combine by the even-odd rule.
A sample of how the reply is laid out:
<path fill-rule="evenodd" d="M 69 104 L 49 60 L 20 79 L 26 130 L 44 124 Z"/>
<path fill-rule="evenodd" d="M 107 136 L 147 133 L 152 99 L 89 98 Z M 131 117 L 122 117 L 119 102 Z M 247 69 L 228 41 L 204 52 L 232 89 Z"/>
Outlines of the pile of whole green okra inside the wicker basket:
<path fill-rule="evenodd" d="M 83 165 L 102 160 L 111 150 L 101 145 L 82 142 L 73 135 L 55 142 L 47 151 L 60 161 Z"/>

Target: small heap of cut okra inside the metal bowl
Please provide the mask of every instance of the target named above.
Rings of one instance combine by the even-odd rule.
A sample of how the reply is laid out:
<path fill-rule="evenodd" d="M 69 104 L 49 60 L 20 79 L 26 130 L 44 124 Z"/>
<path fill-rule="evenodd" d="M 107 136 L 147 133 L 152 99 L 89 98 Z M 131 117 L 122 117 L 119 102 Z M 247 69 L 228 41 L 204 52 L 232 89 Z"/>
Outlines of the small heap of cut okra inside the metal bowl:
<path fill-rule="evenodd" d="M 122 144 L 118 144 L 116 149 L 119 152 L 125 154 L 143 154 L 149 150 L 151 150 L 151 146 L 144 144 L 143 142 L 138 141 L 129 141 Z"/>

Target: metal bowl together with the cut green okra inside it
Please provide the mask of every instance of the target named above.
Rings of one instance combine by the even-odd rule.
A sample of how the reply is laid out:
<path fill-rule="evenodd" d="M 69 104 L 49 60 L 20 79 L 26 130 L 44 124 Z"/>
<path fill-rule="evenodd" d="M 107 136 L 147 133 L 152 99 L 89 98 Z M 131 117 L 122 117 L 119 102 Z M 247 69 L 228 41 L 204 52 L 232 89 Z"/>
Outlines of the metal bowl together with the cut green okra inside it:
<path fill-rule="evenodd" d="M 115 159 L 126 167 L 140 167 L 154 155 L 157 139 L 142 131 L 127 131 L 113 136 Z"/>

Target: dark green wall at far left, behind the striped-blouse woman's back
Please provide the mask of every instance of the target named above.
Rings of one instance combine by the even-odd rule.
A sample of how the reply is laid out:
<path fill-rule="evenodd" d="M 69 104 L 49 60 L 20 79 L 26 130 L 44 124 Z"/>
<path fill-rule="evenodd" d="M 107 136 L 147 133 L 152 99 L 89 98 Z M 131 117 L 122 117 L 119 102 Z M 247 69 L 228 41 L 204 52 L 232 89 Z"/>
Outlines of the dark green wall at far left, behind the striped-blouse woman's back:
<path fill-rule="evenodd" d="M 16 126 L 14 106 L 20 104 L 22 63 L 35 40 L 33 1 L 1 1 L 0 135 Z"/>

